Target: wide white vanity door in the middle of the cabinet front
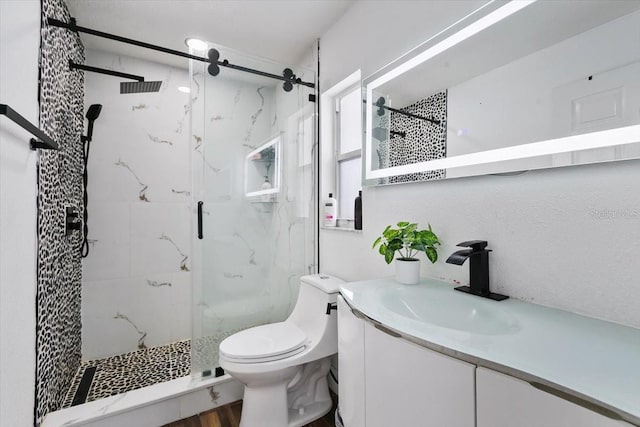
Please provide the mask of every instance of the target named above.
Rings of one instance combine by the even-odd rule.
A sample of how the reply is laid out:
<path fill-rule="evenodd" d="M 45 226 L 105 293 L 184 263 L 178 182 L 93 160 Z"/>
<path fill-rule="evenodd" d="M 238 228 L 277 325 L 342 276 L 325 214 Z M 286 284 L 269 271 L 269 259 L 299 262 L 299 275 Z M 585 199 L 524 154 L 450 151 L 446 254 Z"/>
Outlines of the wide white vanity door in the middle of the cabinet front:
<path fill-rule="evenodd" d="M 475 426 L 474 365 L 369 322 L 364 332 L 367 427 Z"/>

